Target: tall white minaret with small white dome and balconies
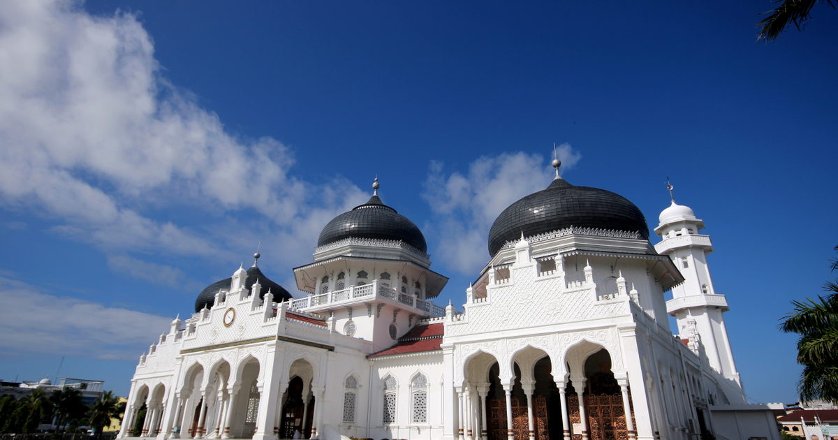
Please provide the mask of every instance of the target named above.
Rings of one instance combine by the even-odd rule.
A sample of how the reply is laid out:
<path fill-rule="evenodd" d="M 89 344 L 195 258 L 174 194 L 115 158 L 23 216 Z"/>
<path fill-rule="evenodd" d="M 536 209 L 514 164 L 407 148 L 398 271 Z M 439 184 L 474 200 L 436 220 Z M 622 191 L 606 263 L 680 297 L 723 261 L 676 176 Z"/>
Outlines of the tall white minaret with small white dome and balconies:
<path fill-rule="evenodd" d="M 669 189 L 671 192 L 671 186 Z M 716 294 L 713 287 L 707 266 L 707 255 L 713 251 L 713 245 L 710 236 L 698 233 L 702 228 L 704 221 L 696 218 L 689 207 L 676 204 L 675 199 L 660 213 L 660 225 L 654 232 L 663 241 L 654 245 L 654 249 L 669 256 L 685 278 L 685 282 L 672 287 L 666 312 L 677 319 L 681 338 L 689 338 L 697 331 L 711 368 L 741 387 L 722 316 L 730 308 L 725 296 Z"/>

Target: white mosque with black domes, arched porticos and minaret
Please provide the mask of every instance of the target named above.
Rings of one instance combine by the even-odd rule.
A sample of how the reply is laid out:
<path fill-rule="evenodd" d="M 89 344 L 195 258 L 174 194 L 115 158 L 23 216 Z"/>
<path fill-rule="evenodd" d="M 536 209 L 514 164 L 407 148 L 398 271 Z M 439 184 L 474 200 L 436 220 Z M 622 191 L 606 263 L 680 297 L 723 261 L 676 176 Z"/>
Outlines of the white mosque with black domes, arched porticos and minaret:
<path fill-rule="evenodd" d="M 560 165 L 494 221 L 462 311 L 434 303 L 447 277 L 377 179 L 293 269 L 307 296 L 257 252 L 140 356 L 119 437 L 779 440 L 742 388 L 703 220 L 673 199 L 653 245 L 637 206 Z"/>

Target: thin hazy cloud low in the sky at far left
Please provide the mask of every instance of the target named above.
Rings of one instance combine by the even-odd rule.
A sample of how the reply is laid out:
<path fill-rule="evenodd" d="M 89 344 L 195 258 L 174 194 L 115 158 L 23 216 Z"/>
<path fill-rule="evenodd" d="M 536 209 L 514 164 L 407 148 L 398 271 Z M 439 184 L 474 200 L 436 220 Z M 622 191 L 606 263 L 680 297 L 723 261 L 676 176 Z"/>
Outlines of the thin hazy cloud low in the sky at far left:
<path fill-rule="evenodd" d="M 0 352 L 49 354 L 56 349 L 78 357 L 137 359 L 172 318 L 60 298 L 0 277 Z"/>

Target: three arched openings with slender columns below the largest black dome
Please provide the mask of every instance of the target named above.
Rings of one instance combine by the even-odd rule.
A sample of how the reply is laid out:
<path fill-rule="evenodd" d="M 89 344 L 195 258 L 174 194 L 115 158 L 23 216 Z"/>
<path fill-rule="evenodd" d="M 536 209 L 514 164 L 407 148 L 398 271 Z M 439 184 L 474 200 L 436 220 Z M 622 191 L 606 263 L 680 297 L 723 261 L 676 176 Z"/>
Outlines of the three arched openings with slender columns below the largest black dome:
<path fill-rule="evenodd" d="M 530 362 L 515 360 L 511 384 L 501 380 L 494 356 L 480 354 L 473 359 L 473 364 L 477 364 L 469 365 L 477 367 L 473 372 L 479 376 L 485 371 L 485 375 L 483 380 L 477 377 L 474 383 L 467 380 L 459 392 L 463 406 L 461 438 L 628 440 L 636 437 L 628 384 L 615 378 L 606 349 L 587 357 L 581 378 L 571 370 L 571 379 L 566 382 L 561 378 L 556 382 L 550 357 L 544 352 L 530 355 Z M 485 369 L 485 365 L 489 368 Z M 631 415 L 628 423 L 627 414 Z"/>

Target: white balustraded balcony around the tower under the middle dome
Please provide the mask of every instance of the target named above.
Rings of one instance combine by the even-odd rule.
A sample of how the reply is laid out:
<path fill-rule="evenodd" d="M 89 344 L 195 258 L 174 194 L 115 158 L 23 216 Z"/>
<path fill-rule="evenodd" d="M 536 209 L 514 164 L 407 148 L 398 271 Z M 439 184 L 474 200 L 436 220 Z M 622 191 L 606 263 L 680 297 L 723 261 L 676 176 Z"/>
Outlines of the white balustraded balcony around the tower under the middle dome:
<path fill-rule="evenodd" d="M 378 280 L 374 280 L 370 284 L 363 286 L 349 286 L 349 288 L 344 290 L 311 295 L 306 298 L 291 299 L 287 301 L 287 304 L 292 309 L 318 312 L 330 308 L 344 307 L 351 303 L 373 303 L 375 301 L 390 302 L 396 305 L 416 308 L 431 317 L 445 315 L 445 308 L 434 305 L 431 301 L 425 301 L 413 295 L 397 292 L 396 289 L 381 286 Z"/>

